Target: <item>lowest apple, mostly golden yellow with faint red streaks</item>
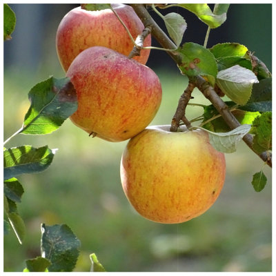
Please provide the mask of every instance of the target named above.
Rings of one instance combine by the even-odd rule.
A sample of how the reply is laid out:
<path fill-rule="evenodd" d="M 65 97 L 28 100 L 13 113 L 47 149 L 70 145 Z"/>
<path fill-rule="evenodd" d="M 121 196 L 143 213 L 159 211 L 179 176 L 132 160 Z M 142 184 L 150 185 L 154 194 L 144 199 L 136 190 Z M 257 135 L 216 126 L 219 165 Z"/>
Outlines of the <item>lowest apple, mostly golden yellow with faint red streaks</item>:
<path fill-rule="evenodd" d="M 204 130 L 169 130 L 148 127 L 128 141 L 121 157 L 121 184 L 140 215 L 177 224 L 213 205 L 224 185 L 226 163 Z"/>

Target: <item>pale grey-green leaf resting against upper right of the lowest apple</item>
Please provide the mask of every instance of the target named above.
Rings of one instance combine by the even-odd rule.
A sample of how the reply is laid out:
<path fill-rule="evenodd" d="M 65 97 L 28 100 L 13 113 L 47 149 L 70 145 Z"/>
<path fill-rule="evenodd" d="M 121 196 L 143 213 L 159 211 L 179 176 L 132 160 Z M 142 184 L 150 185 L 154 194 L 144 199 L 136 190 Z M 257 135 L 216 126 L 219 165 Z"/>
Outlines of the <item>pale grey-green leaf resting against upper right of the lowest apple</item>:
<path fill-rule="evenodd" d="M 239 141 L 249 132 L 250 127 L 250 125 L 244 124 L 229 132 L 212 132 L 204 128 L 201 129 L 208 132 L 210 144 L 212 144 L 216 150 L 224 153 L 231 153 L 237 150 L 237 144 L 239 144 Z"/>

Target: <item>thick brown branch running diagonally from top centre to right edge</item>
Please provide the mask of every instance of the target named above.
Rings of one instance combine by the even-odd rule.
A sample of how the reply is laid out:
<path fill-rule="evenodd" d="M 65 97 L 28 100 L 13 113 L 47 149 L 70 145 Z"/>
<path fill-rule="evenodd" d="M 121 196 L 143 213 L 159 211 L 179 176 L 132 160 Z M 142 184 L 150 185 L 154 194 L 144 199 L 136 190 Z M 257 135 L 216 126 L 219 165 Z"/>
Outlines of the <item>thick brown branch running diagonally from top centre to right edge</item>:
<path fill-rule="evenodd" d="M 162 47 L 167 49 L 175 49 L 175 43 L 173 43 L 169 39 L 168 35 L 163 30 L 161 30 L 161 28 L 152 19 L 152 17 L 148 13 L 148 10 L 146 10 L 143 4 L 130 4 L 130 6 L 132 6 L 133 10 L 135 10 L 138 17 L 144 23 L 144 26 L 151 27 L 152 37 L 155 37 L 155 39 L 160 43 Z M 175 63 L 177 63 L 177 65 L 181 64 L 182 59 L 179 53 L 169 51 L 167 51 L 167 53 L 175 61 Z M 202 92 L 202 94 L 213 104 L 213 106 L 217 109 L 221 117 L 223 117 L 224 121 L 231 129 L 235 129 L 241 125 L 239 124 L 239 121 L 237 121 L 236 117 L 230 112 L 226 103 L 219 97 L 219 95 L 217 95 L 217 92 L 210 85 L 210 83 L 208 83 L 208 81 L 206 81 L 200 75 L 191 77 L 189 81 L 193 83 L 193 85 L 197 87 Z M 255 150 L 253 149 L 253 135 L 246 134 L 244 135 L 243 140 L 247 144 L 247 146 L 251 150 L 253 150 L 253 152 L 255 152 Z M 255 153 L 262 160 L 264 160 L 266 164 L 268 164 L 268 166 L 272 167 L 271 152 L 264 151 L 260 154 L 257 152 Z"/>

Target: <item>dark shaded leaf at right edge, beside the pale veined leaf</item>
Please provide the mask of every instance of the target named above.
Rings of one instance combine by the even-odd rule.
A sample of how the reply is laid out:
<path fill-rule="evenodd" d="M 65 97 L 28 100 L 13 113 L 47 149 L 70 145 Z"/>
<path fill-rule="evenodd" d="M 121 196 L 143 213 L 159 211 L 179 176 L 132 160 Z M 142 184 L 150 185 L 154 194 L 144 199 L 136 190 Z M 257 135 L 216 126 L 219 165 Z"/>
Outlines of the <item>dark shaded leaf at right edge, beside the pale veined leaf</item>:
<path fill-rule="evenodd" d="M 272 111 L 272 78 L 254 83 L 250 99 L 240 108 L 248 111 Z"/>

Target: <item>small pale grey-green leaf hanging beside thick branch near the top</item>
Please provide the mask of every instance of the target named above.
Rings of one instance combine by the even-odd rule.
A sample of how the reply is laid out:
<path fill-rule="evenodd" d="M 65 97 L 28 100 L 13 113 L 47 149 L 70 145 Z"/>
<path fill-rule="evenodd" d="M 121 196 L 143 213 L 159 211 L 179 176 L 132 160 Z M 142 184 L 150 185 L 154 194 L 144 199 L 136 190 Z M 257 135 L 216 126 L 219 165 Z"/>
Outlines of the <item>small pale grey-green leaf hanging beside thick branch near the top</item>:
<path fill-rule="evenodd" d="M 185 19 L 176 12 L 170 12 L 166 14 L 163 19 L 168 30 L 168 34 L 178 48 L 182 41 L 183 34 L 187 28 L 187 23 Z"/>

